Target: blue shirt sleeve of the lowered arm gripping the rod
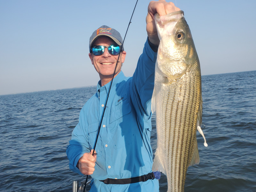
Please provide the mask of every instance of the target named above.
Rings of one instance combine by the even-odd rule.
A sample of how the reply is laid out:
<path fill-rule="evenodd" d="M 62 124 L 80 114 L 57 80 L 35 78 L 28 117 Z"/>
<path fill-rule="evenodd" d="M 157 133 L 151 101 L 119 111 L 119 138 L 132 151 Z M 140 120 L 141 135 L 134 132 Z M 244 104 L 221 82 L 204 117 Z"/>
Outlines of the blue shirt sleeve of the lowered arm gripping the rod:
<path fill-rule="evenodd" d="M 89 143 L 88 143 L 88 133 L 86 133 L 86 118 L 84 116 L 84 110 L 80 111 L 79 123 L 76 125 L 75 129 L 72 132 L 71 140 L 67 147 L 67 156 L 69 160 L 69 168 L 83 175 L 80 170 L 76 167 L 78 160 L 83 156 L 84 153 L 90 152 Z"/>

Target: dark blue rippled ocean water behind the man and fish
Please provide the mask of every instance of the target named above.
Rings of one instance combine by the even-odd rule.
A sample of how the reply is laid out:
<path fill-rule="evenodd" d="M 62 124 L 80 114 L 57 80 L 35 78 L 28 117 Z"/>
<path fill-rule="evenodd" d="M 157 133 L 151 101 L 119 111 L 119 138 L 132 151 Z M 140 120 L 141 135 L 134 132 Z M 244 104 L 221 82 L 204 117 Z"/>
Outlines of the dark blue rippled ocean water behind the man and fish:
<path fill-rule="evenodd" d="M 96 87 L 0 96 L 0 191 L 71 192 L 85 179 L 68 168 L 66 147 Z M 202 76 L 200 163 L 186 192 L 256 191 L 256 71 Z M 151 145 L 156 149 L 155 115 Z M 160 191 L 167 190 L 162 174 Z"/>

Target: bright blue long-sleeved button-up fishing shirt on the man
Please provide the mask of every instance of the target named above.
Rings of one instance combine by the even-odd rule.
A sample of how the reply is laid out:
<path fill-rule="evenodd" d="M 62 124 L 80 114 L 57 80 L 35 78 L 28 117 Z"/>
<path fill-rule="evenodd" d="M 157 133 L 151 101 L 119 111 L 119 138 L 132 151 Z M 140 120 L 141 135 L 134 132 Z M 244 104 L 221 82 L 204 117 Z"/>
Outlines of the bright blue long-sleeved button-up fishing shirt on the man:
<path fill-rule="evenodd" d="M 99 181 L 138 177 L 152 172 L 151 97 L 156 56 L 147 40 L 133 76 L 125 77 L 121 71 L 113 79 L 95 148 L 97 159 L 90 191 L 159 191 L 157 179 L 124 185 L 107 185 Z M 98 83 L 98 91 L 81 109 L 79 123 L 69 141 L 69 167 L 81 175 L 76 164 L 94 147 L 109 86 L 110 82 L 102 87 Z"/>

